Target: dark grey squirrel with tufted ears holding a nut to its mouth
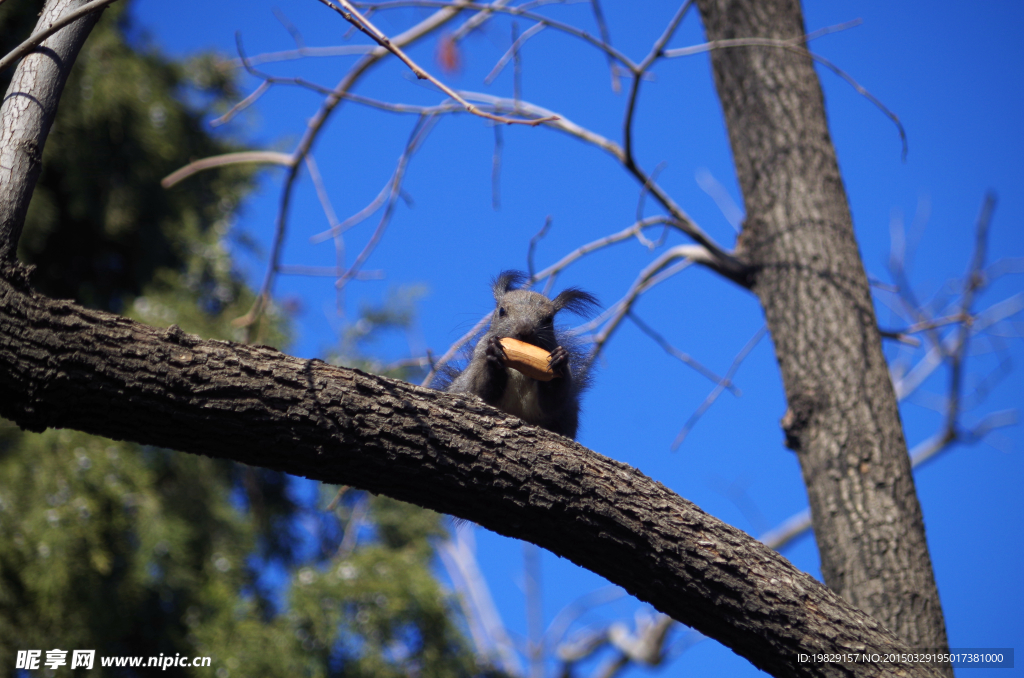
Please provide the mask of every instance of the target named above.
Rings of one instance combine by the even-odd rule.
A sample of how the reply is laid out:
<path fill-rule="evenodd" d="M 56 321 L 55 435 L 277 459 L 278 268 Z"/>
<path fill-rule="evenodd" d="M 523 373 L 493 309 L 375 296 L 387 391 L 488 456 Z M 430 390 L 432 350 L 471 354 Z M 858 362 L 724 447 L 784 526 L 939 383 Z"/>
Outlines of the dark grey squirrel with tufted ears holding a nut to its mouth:
<path fill-rule="evenodd" d="M 589 292 L 574 287 L 554 299 L 529 290 L 517 289 L 528 280 L 522 271 L 505 270 L 495 279 L 494 315 L 490 326 L 473 348 L 469 365 L 452 371 L 444 390 L 473 393 L 487 405 L 515 415 L 528 424 L 543 426 L 575 438 L 580 425 L 580 395 L 589 385 L 582 369 L 578 342 L 555 330 L 555 315 L 562 310 L 586 315 L 598 306 Z M 537 381 L 505 365 L 500 340 L 511 337 L 549 351 L 550 369 L 556 377 Z"/>

